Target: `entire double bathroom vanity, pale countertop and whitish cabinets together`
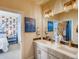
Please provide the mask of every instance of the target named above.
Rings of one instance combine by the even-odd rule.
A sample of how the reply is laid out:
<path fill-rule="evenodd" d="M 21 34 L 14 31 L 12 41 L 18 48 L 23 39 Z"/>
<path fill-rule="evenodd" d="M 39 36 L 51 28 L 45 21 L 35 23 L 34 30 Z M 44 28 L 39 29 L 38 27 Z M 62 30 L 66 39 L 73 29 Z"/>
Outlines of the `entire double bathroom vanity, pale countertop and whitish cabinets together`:
<path fill-rule="evenodd" d="M 46 40 L 34 41 L 35 59 L 78 59 L 78 49 L 67 45 L 55 46 Z"/>

